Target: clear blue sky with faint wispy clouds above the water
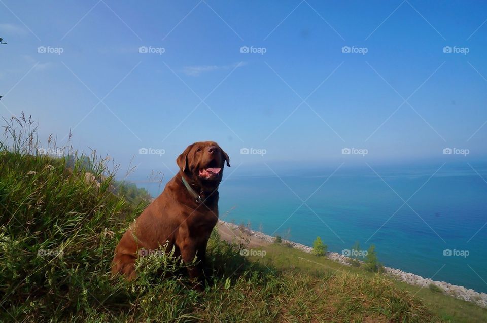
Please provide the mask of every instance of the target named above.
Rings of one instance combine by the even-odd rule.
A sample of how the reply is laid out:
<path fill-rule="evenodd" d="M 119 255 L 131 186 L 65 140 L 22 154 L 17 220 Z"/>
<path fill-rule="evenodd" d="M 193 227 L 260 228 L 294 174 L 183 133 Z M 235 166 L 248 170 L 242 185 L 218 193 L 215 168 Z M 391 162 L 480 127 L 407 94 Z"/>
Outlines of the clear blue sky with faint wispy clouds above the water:
<path fill-rule="evenodd" d="M 31 114 L 40 137 L 52 133 L 58 146 L 71 127 L 75 148 L 96 149 L 122 169 L 133 157 L 140 174 L 175 170 L 189 143 L 208 139 L 233 165 L 487 155 L 483 2 L 2 0 L 0 7 L 8 43 L 0 45 L 1 116 Z M 444 155 L 447 147 L 469 154 Z M 343 155 L 344 148 L 367 155 Z"/>

